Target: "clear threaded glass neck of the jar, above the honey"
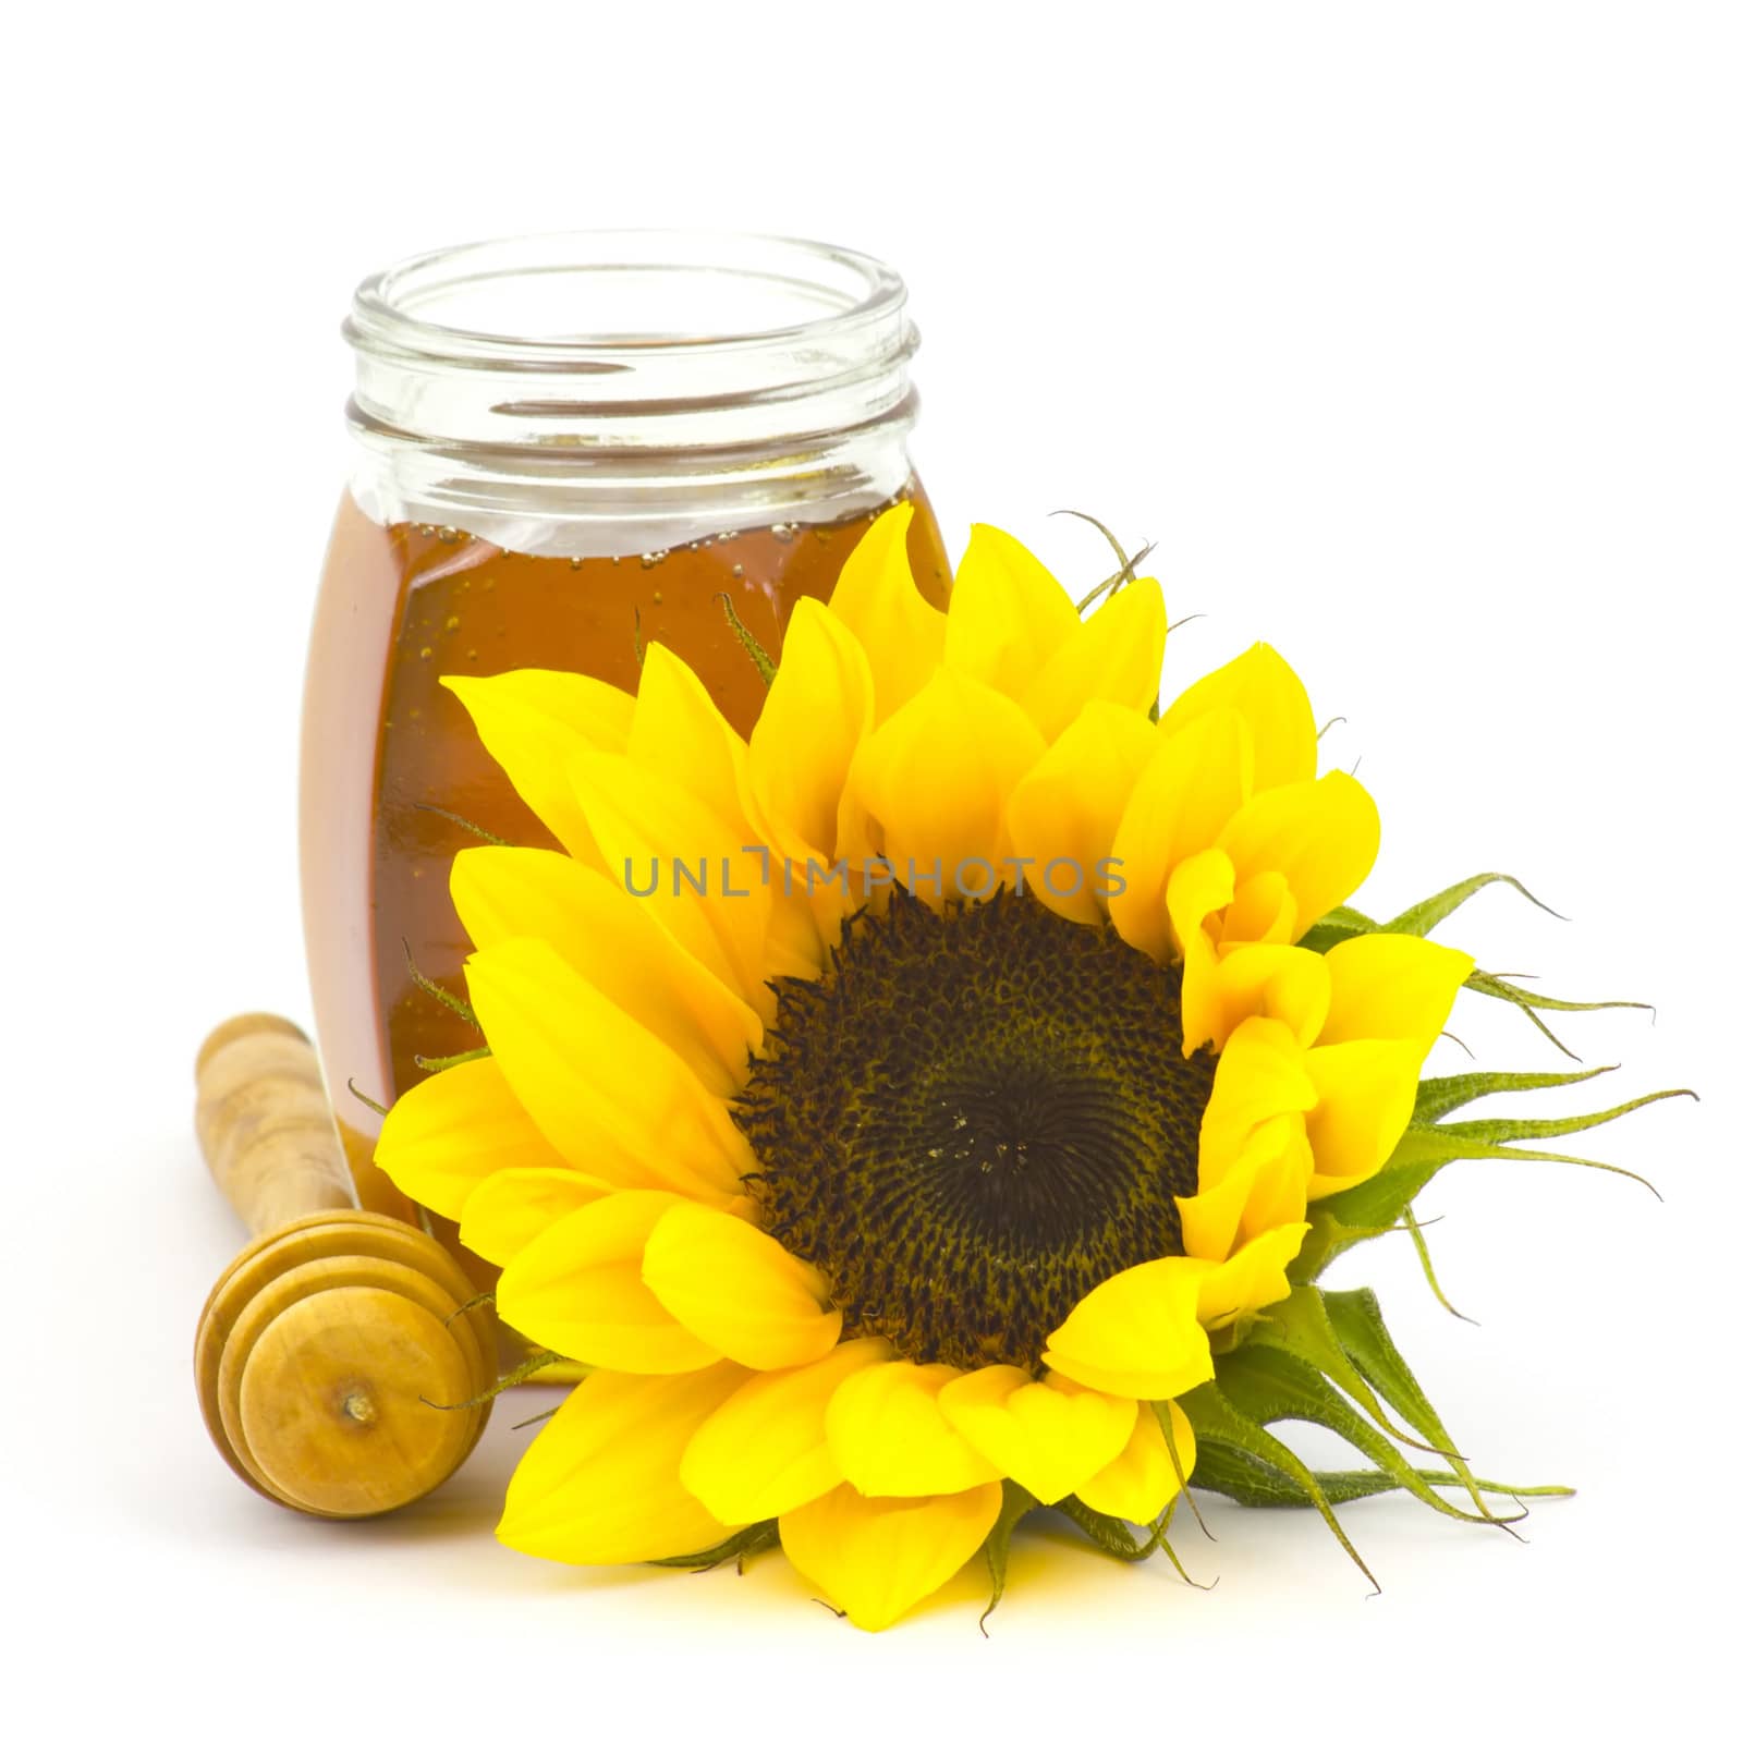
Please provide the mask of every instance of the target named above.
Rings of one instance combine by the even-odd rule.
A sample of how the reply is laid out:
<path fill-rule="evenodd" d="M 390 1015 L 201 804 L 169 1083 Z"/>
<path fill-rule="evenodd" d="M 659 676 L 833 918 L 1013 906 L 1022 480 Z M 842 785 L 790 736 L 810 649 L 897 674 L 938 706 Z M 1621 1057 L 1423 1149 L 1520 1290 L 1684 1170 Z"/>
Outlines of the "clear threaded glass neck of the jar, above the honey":
<path fill-rule="evenodd" d="M 394 516 L 744 519 L 905 476 L 906 288 L 821 242 L 474 242 L 364 279 L 345 338 L 359 497 Z"/>

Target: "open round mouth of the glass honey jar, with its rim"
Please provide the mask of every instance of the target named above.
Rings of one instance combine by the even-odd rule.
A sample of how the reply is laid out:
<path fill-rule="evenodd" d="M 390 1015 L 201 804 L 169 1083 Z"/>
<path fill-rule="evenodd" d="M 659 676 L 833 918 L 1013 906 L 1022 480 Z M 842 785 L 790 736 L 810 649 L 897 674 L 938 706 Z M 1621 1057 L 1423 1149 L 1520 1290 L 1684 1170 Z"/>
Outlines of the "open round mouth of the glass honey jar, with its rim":
<path fill-rule="evenodd" d="M 863 364 L 856 342 L 889 329 L 870 354 L 892 363 L 917 343 L 905 305 L 896 272 L 824 242 L 575 230 L 436 249 L 371 274 L 345 338 L 382 361 L 586 376 L 795 345 L 821 347 L 819 364 Z"/>

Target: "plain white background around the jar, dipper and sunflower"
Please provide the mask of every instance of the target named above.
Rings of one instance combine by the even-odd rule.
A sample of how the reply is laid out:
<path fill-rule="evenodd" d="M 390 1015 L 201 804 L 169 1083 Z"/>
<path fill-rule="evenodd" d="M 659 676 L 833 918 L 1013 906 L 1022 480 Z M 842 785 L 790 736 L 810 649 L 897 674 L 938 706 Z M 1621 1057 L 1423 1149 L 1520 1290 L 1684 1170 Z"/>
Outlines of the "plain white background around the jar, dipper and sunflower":
<path fill-rule="evenodd" d="M 1679 1720 L 1722 1692 L 1738 1551 L 1734 7 L 63 5 L 7 37 L 14 1734 L 1724 1729 Z M 1489 892 L 1447 936 L 1658 1004 L 1567 1037 L 1624 1061 L 1618 1096 L 1703 1089 L 1586 1140 L 1663 1204 L 1461 1164 L 1424 1208 L 1480 1328 L 1403 1246 L 1347 1265 L 1480 1468 L 1579 1485 L 1529 1546 L 1363 1502 L 1365 1597 L 1311 1516 L 1208 1506 L 1217 1541 L 1178 1541 L 1215 1591 L 1023 1537 L 990 1640 L 973 1572 L 863 1637 L 777 1558 L 498 1548 L 537 1398 L 375 1525 L 272 1509 L 206 1445 L 188 1344 L 239 1231 L 190 1061 L 234 1009 L 305 1014 L 350 286 L 643 223 L 896 263 L 955 551 L 994 519 L 1098 575 L 1061 505 L 1156 539 L 1171 614 L 1206 614 L 1170 687 L 1262 633 L 1347 716 L 1328 755 L 1386 819 L 1367 906 L 1516 872 L 1574 924 Z M 1455 1027 L 1556 1065 L 1523 1021 Z"/>

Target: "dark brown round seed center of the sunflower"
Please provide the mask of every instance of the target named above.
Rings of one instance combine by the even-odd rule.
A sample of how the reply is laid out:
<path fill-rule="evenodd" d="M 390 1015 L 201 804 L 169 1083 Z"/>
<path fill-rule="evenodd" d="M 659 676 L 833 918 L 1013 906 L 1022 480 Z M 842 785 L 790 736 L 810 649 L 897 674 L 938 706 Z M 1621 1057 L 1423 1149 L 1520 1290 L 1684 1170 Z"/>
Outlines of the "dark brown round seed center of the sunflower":
<path fill-rule="evenodd" d="M 763 1227 L 847 1335 L 1034 1367 L 1098 1283 L 1182 1250 L 1215 1061 L 1180 1055 L 1178 973 L 1112 929 L 898 891 L 776 990 L 736 1119 Z"/>

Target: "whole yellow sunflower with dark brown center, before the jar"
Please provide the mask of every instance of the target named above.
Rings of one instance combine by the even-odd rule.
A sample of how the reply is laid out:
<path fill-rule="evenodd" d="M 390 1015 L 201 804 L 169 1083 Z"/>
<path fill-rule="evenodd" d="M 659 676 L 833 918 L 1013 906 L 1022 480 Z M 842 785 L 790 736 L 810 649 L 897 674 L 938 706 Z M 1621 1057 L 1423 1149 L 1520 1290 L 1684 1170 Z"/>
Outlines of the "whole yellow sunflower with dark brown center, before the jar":
<path fill-rule="evenodd" d="M 1318 770 L 1271 647 L 1159 709 L 1154 580 L 1128 565 L 1082 617 L 981 526 L 941 614 L 908 518 L 795 608 L 748 743 L 659 645 L 634 695 L 448 680 L 561 851 L 457 856 L 486 1048 L 401 1096 L 378 1152 L 502 1265 L 500 1316 L 591 1370 L 504 1543 L 779 1541 L 865 1628 L 983 1548 L 1002 1586 L 1028 1506 L 1145 1553 L 1201 1441 L 1208 1487 L 1326 1511 L 1264 1429 L 1265 1363 L 1391 1426 L 1384 1363 L 1342 1360 L 1365 1304 L 1306 1285 L 1373 1232 L 1321 1206 L 1417 1131 L 1473 973 L 1346 906 L 1375 805 Z M 1365 1450 L 1490 1516 L 1461 1464 Z"/>

